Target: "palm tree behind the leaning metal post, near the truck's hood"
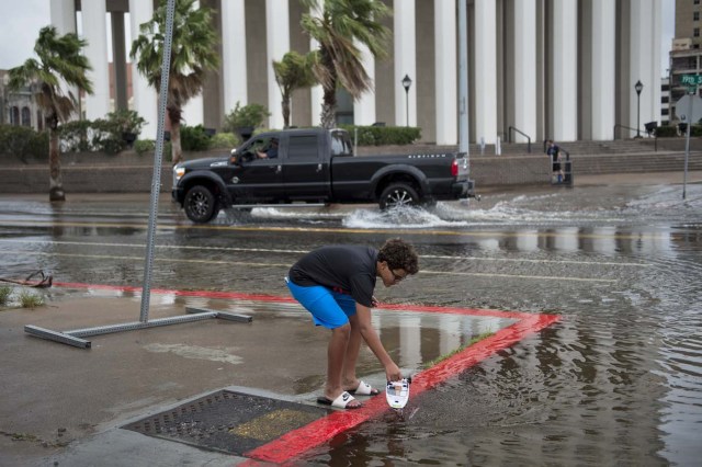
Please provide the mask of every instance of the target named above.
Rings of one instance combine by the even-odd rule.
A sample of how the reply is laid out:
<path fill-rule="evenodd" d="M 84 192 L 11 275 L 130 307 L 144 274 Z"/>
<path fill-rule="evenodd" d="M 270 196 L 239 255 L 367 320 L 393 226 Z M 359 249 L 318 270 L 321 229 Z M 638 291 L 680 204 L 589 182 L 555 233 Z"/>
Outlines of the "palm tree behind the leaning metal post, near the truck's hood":
<path fill-rule="evenodd" d="M 171 124 L 173 164 L 183 158 L 180 123 L 183 106 L 202 92 L 208 70 L 219 66 L 217 36 L 212 24 L 212 10 L 194 8 L 196 0 L 177 0 L 173 15 L 171 64 L 168 76 L 166 110 Z M 138 57 L 137 69 L 158 91 L 161 86 L 161 61 L 166 32 L 166 0 L 151 21 L 139 26 L 140 34 L 132 44 L 132 59 Z"/>

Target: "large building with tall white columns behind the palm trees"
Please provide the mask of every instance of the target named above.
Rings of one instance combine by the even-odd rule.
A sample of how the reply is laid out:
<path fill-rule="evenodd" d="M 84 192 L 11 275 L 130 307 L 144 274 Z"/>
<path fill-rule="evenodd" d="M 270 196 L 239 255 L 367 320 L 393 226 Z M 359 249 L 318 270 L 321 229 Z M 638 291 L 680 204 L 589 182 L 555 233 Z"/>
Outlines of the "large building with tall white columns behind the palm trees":
<path fill-rule="evenodd" d="M 458 138 L 457 1 L 383 0 L 392 31 L 389 57 L 364 52 L 373 92 L 353 102 L 339 92 L 340 123 L 419 126 L 422 140 L 455 145 Z M 472 141 L 532 141 L 553 138 L 608 140 L 635 135 L 659 122 L 661 0 L 465 0 L 468 37 L 468 135 Z M 201 0 L 215 10 L 220 69 L 202 96 L 185 109 L 185 124 L 219 128 L 237 102 L 264 104 L 269 127 L 283 126 L 281 93 L 272 60 L 288 50 L 314 47 L 299 21 L 298 0 Z M 89 45 L 94 94 L 86 98 L 88 118 L 127 105 L 128 46 L 139 24 L 150 20 L 150 0 L 52 0 L 52 23 L 77 31 Z M 77 9 L 80 14 L 77 15 Z M 112 31 L 111 41 L 106 32 Z M 107 45 L 114 66 L 110 76 Z M 411 86 L 406 91 L 403 78 Z M 157 90 L 133 70 L 133 109 L 149 122 L 143 137 L 155 137 Z M 634 84 L 644 84 L 638 96 Z M 319 123 L 321 90 L 294 93 L 291 124 Z"/>

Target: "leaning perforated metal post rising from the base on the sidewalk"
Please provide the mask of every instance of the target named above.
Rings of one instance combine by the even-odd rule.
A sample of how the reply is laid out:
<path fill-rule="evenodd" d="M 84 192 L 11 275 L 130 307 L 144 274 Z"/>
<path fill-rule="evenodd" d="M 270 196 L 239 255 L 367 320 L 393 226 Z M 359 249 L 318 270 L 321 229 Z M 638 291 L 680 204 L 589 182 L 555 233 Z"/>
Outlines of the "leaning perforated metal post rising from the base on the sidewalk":
<path fill-rule="evenodd" d="M 149 300 L 151 298 L 151 270 L 154 265 L 154 237 L 158 217 L 158 195 L 161 189 L 161 163 L 163 161 L 163 128 L 166 127 L 166 102 L 168 100 L 168 78 L 171 64 L 171 42 L 173 38 L 173 16 L 176 0 L 168 0 L 166 7 L 166 36 L 163 37 L 163 58 L 161 60 L 161 89 L 158 107 L 156 151 L 154 152 L 154 175 L 151 179 L 151 202 L 149 209 L 149 229 L 146 239 L 144 261 L 144 285 L 141 287 L 141 314 L 139 320 L 149 320 Z"/>

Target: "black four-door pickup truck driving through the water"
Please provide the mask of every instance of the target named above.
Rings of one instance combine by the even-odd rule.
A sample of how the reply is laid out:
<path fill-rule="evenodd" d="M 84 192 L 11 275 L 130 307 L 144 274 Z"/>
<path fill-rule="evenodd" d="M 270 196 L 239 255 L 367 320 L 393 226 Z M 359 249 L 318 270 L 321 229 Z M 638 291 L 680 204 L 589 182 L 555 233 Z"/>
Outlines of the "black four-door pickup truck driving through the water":
<path fill-rule="evenodd" d="M 227 207 L 433 204 L 474 196 L 474 184 L 456 153 L 355 157 L 346 130 L 308 128 L 262 133 L 230 156 L 181 162 L 172 196 L 192 221 L 207 223 Z"/>

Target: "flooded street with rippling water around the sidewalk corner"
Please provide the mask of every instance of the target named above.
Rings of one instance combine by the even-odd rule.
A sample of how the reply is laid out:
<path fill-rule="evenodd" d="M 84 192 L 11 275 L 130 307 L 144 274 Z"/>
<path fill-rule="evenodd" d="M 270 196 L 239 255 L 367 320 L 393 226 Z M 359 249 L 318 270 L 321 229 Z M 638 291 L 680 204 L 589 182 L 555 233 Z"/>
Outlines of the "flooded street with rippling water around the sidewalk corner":
<path fill-rule="evenodd" d="M 340 435 L 320 465 L 699 465 L 702 184 L 543 187 L 480 203 L 222 213 L 161 196 L 154 288 L 286 296 L 304 252 L 403 237 L 420 273 L 387 304 L 562 315 L 437 390 Z M 148 196 L 0 197 L 4 276 L 140 286 Z M 46 291 L 60 298 L 59 288 Z M 378 371 L 378 368 L 375 368 Z M 309 388 L 304 388 L 308 390 Z M 302 390 L 302 389 L 301 389 Z"/>

